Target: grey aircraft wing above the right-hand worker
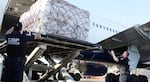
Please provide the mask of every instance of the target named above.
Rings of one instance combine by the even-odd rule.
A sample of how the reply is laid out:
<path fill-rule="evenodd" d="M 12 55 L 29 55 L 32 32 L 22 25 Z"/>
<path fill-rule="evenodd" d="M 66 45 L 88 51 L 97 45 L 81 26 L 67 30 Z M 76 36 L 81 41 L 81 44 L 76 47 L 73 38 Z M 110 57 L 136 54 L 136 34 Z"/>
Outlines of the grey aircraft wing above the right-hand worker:
<path fill-rule="evenodd" d="M 104 49 L 116 49 L 125 46 L 136 46 L 141 61 L 150 60 L 150 22 L 133 26 L 119 34 L 98 43 Z"/>

